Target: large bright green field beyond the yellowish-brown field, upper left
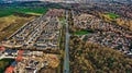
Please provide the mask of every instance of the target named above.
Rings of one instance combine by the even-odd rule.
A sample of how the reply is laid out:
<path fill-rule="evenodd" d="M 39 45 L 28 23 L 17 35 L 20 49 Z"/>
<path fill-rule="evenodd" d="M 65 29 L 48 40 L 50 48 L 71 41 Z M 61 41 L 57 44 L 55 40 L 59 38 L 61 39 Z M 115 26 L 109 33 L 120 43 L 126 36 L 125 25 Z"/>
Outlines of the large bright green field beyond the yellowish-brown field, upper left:
<path fill-rule="evenodd" d="M 50 8 L 3 8 L 0 9 L 0 17 L 2 16 L 8 16 L 8 15 L 12 15 L 14 12 L 19 12 L 19 13 L 38 13 L 38 14 L 43 14 L 46 13 L 46 11 Z"/>

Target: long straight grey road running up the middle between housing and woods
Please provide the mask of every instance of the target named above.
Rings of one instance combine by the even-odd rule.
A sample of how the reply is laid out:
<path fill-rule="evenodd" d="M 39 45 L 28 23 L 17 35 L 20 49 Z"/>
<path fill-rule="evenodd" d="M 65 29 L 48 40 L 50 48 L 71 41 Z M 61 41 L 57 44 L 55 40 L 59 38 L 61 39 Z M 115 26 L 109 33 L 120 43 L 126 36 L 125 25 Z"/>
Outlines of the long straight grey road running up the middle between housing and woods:
<path fill-rule="evenodd" d="M 65 60 L 64 73 L 69 73 L 69 32 L 68 32 L 68 11 L 66 11 L 66 44 L 65 44 Z"/>

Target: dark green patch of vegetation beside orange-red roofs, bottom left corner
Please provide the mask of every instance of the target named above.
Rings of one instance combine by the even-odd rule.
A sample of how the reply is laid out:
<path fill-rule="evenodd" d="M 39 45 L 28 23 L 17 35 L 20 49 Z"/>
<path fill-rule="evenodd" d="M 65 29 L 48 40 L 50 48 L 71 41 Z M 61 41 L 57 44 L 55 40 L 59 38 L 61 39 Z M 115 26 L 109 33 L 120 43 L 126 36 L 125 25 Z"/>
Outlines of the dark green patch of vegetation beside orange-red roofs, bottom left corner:
<path fill-rule="evenodd" d="M 13 62 L 13 59 L 2 59 L 0 60 L 0 73 L 3 73 L 6 68 L 9 66 L 11 64 L 11 62 Z"/>

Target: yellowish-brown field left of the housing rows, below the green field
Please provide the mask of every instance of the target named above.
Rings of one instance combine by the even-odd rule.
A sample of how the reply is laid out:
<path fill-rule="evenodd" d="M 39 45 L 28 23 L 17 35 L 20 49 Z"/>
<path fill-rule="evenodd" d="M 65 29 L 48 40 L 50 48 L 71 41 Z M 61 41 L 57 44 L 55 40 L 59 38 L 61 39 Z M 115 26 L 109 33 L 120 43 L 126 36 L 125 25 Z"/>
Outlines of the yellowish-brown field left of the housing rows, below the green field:
<path fill-rule="evenodd" d="M 20 17 L 14 15 L 9 15 L 4 17 L 0 17 L 0 40 L 4 37 L 9 37 L 13 34 L 16 29 L 19 29 L 22 25 L 24 25 L 30 20 L 34 19 L 35 16 L 31 17 Z"/>

